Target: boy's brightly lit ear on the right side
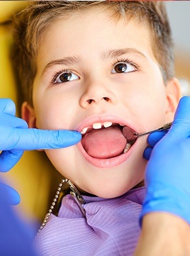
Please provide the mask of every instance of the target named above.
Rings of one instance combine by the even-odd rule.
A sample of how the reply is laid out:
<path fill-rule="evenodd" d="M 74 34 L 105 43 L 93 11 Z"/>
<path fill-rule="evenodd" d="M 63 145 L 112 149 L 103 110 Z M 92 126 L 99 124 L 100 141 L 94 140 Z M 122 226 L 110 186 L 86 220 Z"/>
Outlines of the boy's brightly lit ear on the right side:
<path fill-rule="evenodd" d="M 166 122 L 173 121 L 180 98 L 180 81 L 176 77 L 172 77 L 166 84 Z"/>

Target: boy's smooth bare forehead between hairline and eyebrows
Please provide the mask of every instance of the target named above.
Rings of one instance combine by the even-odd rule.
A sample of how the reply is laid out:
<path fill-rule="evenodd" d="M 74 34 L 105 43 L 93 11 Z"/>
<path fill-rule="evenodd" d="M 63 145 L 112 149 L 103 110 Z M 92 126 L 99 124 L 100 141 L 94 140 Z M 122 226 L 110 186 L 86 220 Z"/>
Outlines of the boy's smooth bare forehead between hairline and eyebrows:
<path fill-rule="evenodd" d="M 38 59 L 61 55 L 93 58 L 112 49 L 135 48 L 154 58 L 147 24 L 98 7 L 60 16 L 41 34 Z"/>

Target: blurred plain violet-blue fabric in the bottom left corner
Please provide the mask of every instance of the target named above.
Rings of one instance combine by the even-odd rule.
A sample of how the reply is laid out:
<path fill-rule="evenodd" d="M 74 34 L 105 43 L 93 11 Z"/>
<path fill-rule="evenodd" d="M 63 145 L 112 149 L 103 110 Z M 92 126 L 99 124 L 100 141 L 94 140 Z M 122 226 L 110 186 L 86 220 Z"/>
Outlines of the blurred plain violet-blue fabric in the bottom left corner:
<path fill-rule="evenodd" d="M 33 232 L 14 213 L 9 205 L 7 188 L 0 192 L 0 255 L 2 256 L 34 256 L 32 248 Z"/>

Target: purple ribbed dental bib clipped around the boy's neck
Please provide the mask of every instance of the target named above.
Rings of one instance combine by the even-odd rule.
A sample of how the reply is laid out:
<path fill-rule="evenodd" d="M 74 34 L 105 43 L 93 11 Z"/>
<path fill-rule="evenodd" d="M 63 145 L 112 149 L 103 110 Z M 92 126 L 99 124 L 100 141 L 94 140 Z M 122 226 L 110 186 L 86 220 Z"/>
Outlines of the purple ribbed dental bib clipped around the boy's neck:
<path fill-rule="evenodd" d="M 145 187 L 112 199 L 83 196 L 86 216 L 71 195 L 62 200 L 35 237 L 37 255 L 132 255 L 140 235 L 139 215 Z"/>

